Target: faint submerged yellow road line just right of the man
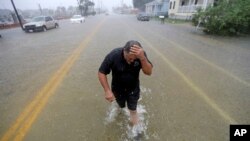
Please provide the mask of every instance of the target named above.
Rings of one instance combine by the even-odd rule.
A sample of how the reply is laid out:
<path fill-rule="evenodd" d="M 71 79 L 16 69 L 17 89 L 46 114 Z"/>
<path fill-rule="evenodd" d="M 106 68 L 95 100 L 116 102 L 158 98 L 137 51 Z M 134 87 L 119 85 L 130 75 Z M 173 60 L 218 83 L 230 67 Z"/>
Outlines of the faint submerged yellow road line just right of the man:
<path fill-rule="evenodd" d="M 128 26 L 129 27 L 129 26 Z M 131 28 L 131 27 L 129 27 Z M 236 120 L 230 117 L 225 111 L 223 111 L 211 98 L 207 96 L 207 94 L 199 88 L 197 85 L 192 82 L 184 73 L 182 73 L 171 61 L 169 61 L 165 55 L 163 55 L 160 51 L 158 51 L 150 42 L 148 42 L 142 35 L 137 33 L 135 30 L 132 30 L 138 37 L 140 37 L 149 47 L 153 50 L 157 55 L 159 55 L 164 62 L 174 71 L 176 72 L 186 84 L 196 92 L 198 96 L 200 96 L 208 105 L 210 105 L 224 120 L 231 124 L 236 124 Z"/>

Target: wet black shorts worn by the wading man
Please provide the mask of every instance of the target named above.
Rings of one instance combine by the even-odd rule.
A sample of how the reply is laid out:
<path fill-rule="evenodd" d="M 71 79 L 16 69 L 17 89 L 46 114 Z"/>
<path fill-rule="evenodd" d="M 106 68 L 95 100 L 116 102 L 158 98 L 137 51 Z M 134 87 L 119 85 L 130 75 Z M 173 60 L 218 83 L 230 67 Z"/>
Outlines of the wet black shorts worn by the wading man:
<path fill-rule="evenodd" d="M 112 90 L 114 96 L 116 98 L 117 104 L 120 108 L 124 108 L 127 103 L 127 107 L 129 110 L 136 110 L 137 102 L 140 98 L 140 89 L 135 89 L 133 91 L 125 91 L 125 90 Z"/>

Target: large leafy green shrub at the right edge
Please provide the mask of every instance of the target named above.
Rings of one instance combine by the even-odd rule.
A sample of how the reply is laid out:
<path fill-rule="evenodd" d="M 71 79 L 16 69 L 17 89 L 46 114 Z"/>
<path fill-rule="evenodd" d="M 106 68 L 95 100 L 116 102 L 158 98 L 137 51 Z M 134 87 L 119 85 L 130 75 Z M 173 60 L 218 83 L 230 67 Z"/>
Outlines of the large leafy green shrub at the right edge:
<path fill-rule="evenodd" d="M 198 9 L 192 22 L 201 20 L 204 31 L 218 35 L 250 34 L 250 0 L 221 0 L 205 11 Z"/>

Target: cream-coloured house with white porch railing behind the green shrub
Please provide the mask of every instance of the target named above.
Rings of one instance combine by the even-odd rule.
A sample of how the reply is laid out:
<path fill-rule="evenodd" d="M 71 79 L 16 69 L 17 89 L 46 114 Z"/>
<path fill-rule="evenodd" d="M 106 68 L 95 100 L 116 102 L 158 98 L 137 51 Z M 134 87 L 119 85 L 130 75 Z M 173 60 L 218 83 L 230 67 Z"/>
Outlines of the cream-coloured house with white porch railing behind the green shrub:
<path fill-rule="evenodd" d="M 168 16 L 174 19 L 191 20 L 197 8 L 206 9 L 217 0 L 170 0 Z"/>

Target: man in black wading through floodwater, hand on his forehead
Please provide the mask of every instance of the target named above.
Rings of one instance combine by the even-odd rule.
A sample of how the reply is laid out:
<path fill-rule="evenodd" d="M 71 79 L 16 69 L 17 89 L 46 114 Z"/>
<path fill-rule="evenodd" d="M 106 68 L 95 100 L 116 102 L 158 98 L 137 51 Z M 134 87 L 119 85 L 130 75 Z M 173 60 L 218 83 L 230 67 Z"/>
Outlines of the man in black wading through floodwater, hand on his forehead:
<path fill-rule="evenodd" d="M 139 122 L 137 102 L 140 97 L 139 73 L 151 75 L 153 65 L 138 41 L 128 41 L 124 47 L 113 49 L 102 62 L 98 78 L 105 91 L 105 99 L 116 100 L 120 108 L 127 107 L 132 125 Z M 107 75 L 112 71 L 111 88 Z"/>

